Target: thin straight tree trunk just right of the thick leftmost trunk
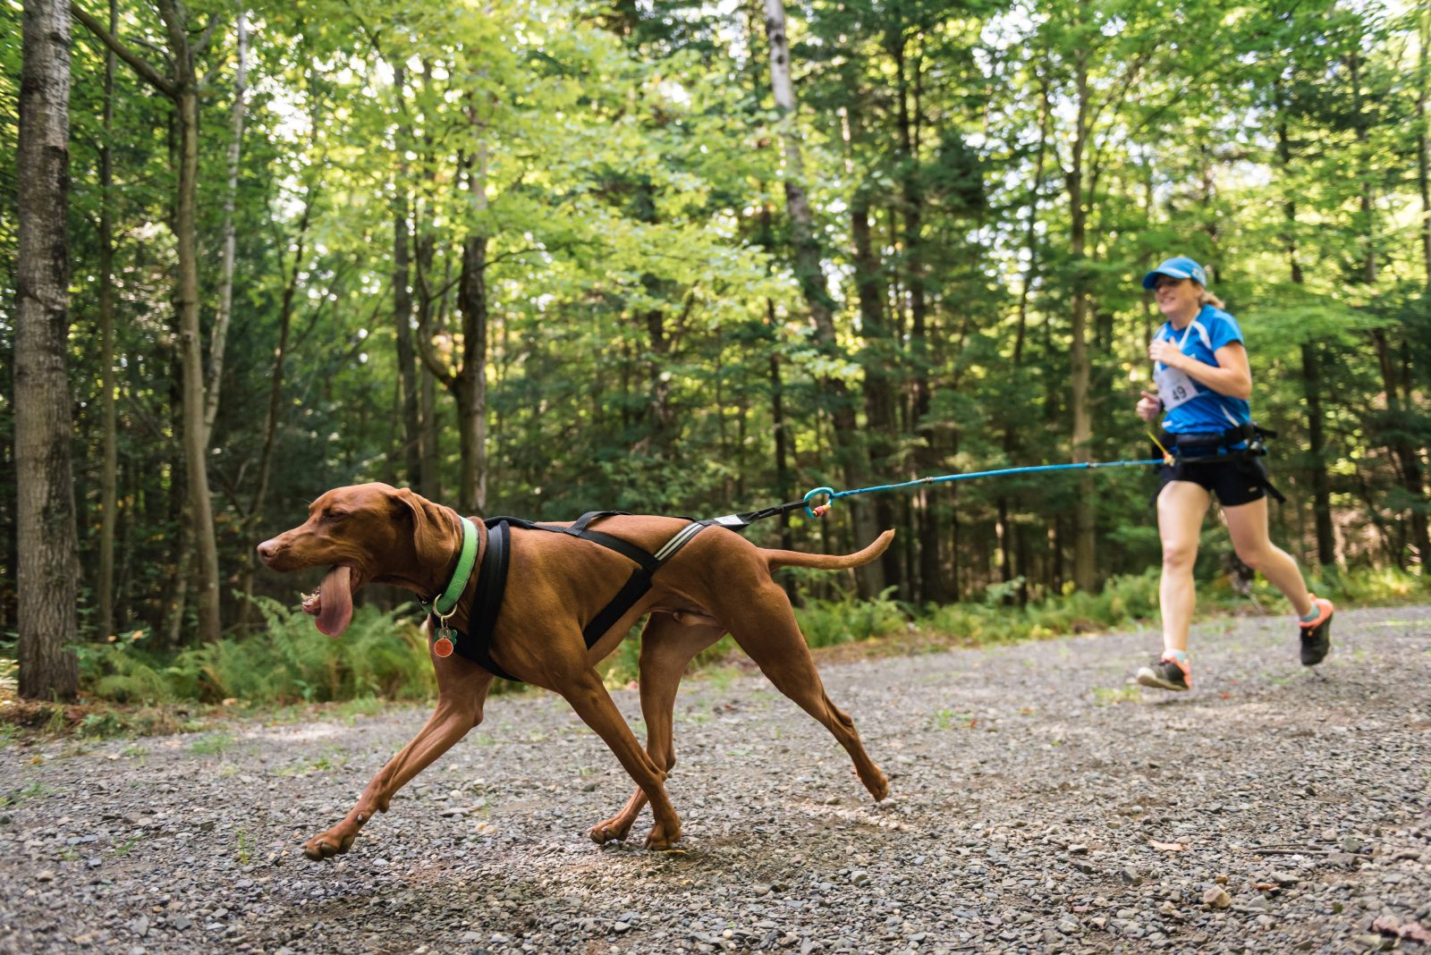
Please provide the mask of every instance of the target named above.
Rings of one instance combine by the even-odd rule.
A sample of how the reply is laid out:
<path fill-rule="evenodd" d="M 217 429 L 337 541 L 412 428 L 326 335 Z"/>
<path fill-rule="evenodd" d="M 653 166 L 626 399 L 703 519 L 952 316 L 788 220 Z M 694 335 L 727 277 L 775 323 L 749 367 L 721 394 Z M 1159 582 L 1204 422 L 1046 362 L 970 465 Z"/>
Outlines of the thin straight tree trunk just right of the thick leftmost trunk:
<path fill-rule="evenodd" d="M 109 30 L 119 23 L 119 1 L 109 0 Z M 119 435 L 114 420 L 114 51 L 104 49 L 104 142 L 99 153 L 99 337 L 100 415 L 104 462 L 99 480 L 99 636 L 114 632 L 114 523 L 119 495 Z"/>

